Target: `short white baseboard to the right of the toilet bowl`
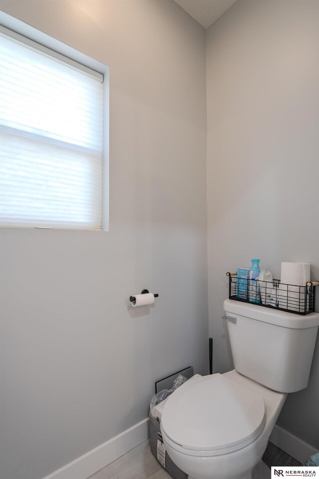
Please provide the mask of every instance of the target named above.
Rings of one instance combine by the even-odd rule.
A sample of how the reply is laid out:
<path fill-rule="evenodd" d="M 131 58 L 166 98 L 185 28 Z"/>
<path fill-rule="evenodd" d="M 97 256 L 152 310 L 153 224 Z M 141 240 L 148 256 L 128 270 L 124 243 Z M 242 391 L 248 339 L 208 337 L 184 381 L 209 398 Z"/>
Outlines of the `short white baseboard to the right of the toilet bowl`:
<path fill-rule="evenodd" d="M 270 435 L 269 441 L 302 464 L 313 454 L 319 453 L 310 444 L 305 443 L 297 436 L 286 431 L 286 429 L 277 426 L 277 424 Z"/>

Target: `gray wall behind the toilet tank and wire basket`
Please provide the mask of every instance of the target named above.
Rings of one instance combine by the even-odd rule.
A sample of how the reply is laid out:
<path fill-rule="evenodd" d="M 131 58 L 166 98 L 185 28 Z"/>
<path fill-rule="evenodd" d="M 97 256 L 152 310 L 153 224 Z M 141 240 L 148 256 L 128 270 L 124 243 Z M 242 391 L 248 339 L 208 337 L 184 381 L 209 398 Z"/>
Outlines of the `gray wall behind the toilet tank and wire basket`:
<path fill-rule="evenodd" d="M 319 278 L 319 2 L 238 0 L 207 31 L 209 327 L 232 367 L 225 272 L 309 261 Z M 319 300 L 317 300 L 319 311 Z M 319 449 L 319 344 L 278 424 Z"/>

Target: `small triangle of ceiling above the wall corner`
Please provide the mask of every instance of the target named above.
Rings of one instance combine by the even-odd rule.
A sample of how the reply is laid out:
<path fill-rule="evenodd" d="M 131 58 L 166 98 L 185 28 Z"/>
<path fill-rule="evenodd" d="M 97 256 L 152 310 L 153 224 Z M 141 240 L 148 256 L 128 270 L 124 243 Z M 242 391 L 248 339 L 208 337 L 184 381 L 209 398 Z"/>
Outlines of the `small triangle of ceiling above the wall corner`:
<path fill-rule="evenodd" d="M 236 0 L 174 0 L 204 28 L 208 28 Z"/>

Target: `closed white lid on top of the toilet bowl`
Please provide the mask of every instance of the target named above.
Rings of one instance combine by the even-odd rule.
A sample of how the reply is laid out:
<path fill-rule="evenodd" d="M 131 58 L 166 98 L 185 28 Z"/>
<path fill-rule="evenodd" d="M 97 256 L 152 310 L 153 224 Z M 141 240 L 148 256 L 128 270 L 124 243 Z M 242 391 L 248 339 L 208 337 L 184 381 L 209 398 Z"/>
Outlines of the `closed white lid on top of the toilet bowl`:
<path fill-rule="evenodd" d="M 168 397 L 161 428 L 169 439 L 186 449 L 234 451 L 253 442 L 265 422 L 261 396 L 221 374 L 213 374 L 187 381 Z"/>

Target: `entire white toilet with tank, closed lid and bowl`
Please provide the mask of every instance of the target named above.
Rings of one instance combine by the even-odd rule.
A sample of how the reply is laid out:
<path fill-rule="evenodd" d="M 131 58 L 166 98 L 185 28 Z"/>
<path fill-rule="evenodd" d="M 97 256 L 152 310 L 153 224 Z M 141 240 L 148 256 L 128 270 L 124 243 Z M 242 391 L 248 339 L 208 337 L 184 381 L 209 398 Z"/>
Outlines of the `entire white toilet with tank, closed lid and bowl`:
<path fill-rule="evenodd" d="M 319 313 L 224 301 L 235 369 L 185 382 L 160 429 L 188 479 L 251 479 L 290 392 L 308 385 Z"/>

